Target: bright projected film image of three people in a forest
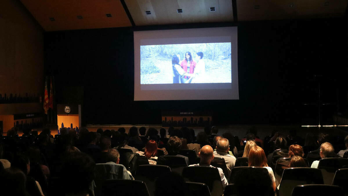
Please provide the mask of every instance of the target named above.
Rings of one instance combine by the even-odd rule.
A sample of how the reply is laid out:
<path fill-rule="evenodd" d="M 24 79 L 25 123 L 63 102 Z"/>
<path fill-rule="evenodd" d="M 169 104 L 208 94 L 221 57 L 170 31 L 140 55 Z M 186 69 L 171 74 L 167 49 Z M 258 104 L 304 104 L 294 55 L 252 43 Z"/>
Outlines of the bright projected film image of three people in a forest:
<path fill-rule="evenodd" d="M 231 83 L 231 43 L 140 46 L 140 83 Z"/>

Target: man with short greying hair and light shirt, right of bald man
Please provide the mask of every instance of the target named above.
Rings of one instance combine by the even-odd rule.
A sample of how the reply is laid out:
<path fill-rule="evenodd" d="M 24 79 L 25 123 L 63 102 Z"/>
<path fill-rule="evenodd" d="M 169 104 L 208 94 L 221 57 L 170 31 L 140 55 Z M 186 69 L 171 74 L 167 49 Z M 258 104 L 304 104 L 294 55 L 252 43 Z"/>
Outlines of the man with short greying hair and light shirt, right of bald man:
<path fill-rule="evenodd" d="M 231 169 L 235 166 L 236 163 L 236 157 L 231 156 L 228 154 L 229 148 L 229 142 L 226 138 L 221 138 L 216 143 L 216 151 L 214 151 L 215 157 L 221 157 L 225 159 L 225 163 L 227 166 L 227 176 L 230 176 Z"/>

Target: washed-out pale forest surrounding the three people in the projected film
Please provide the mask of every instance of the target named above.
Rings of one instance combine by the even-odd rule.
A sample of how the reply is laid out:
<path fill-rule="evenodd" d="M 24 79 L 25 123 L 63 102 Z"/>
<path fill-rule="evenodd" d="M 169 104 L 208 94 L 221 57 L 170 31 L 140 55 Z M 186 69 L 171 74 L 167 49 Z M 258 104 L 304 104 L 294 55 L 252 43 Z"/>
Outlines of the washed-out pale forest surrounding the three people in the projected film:
<path fill-rule="evenodd" d="M 173 83 L 172 56 L 190 52 L 195 61 L 197 52 L 203 52 L 205 83 L 231 83 L 231 43 L 169 44 L 140 46 L 140 83 Z"/>

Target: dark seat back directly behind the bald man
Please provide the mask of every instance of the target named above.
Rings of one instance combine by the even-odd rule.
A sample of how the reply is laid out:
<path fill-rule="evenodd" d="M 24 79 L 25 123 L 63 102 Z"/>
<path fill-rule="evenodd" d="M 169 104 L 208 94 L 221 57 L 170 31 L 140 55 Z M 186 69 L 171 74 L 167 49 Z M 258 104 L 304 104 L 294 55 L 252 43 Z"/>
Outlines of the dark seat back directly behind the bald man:
<path fill-rule="evenodd" d="M 223 194 L 219 170 L 216 167 L 184 167 L 182 176 L 187 182 L 205 183 L 209 187 L 212 196 L 220 196 Z"/>

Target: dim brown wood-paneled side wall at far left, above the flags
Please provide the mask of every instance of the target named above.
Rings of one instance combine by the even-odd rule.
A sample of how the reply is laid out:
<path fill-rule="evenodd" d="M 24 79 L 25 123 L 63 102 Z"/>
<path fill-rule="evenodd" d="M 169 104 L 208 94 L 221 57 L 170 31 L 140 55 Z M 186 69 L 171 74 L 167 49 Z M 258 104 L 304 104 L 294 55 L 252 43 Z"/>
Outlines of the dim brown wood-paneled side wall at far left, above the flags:
<path fill-rule="evenodd" d="M 44 36 L 19 0 L 0 1 L 0 93 L 43 92 Z M 41 104 L 0 104 L 0 114 L 41 111 Z M 28 105 L 28 107 L 27 107 Z M 34 107 L 33 107 L 34 105 Z M 30 110 L 28 111 L 28 108 Z"/>

